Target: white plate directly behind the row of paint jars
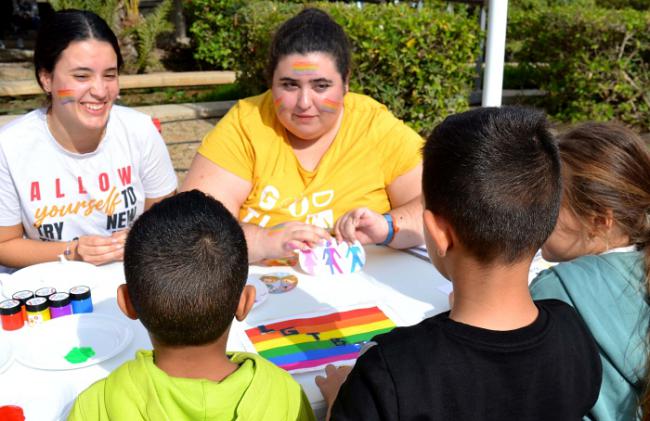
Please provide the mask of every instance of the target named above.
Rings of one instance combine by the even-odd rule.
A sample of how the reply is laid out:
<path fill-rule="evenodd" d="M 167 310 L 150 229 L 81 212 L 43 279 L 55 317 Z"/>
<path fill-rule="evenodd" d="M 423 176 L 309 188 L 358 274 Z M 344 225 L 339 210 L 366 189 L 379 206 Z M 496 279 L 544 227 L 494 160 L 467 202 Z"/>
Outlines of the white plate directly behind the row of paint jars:
<path fill-rule="evenodd" d="M 54 287 L 62 292 L 68 292 L 77 285 L 86 285 L 92 289 L 97 284 L 100 273 L 95 265 L 86 262 L 39 263 L 11 275 L 3 275 L 0 278 L 2 295 L 11 298 L 16 291 L 36 291 L 42 287 Z"/>

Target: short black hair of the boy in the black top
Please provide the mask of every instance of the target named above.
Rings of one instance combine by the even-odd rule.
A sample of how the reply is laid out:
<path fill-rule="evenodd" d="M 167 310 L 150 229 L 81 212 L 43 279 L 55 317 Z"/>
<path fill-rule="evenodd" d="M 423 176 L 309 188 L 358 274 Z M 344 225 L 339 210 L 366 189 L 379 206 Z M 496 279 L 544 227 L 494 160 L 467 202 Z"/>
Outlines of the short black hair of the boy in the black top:
<path fill-rule="evenodd" d="M 482 263 L 532 256 L 553 231 L 562 184 L 544 113 L 478 108 L 447 117 L 424 148 L 425 207 Z"/>

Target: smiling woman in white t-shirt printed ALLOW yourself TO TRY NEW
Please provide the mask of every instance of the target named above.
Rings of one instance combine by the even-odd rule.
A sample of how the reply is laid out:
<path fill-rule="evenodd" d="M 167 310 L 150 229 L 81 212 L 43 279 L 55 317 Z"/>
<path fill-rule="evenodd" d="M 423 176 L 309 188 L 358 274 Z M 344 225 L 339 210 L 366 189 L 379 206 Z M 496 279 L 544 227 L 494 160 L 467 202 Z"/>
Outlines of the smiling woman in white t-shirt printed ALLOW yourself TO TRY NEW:
<path fill-rule="evenodd" d="M 130 224 L 177 180 L 151 118 L 113 102 L 122 56 L 97 15 L 55 13 L 35 73 L 48 98 L 0 129 L 0 265 L 121 260 Z"/>

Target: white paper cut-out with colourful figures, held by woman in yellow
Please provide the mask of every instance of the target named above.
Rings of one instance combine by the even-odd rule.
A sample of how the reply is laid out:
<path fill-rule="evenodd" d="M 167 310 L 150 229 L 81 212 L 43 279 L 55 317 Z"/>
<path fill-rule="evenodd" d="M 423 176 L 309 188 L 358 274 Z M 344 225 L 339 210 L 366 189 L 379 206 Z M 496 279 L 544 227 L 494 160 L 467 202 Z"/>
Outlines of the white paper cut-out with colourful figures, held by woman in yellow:
<path fill-rule="evenodd" d="M 340 275 L 360 272 L 366 264 L 366 252 L 361 243 L 335 239 L 314 248 L 299 250 L 300 268 L 310 275 Z"/>

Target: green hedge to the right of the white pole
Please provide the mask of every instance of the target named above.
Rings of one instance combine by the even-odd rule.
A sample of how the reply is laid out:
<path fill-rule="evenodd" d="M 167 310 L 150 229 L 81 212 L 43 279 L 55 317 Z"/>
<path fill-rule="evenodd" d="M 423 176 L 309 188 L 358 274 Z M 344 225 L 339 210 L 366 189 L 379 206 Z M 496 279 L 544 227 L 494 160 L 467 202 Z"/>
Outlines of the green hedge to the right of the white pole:
<path fill-rule="evenodd" d="M 562 121 L 618 119 L 650 128 L 650 12 L 578 6 L 509 14 L 519 71 Z"/>

